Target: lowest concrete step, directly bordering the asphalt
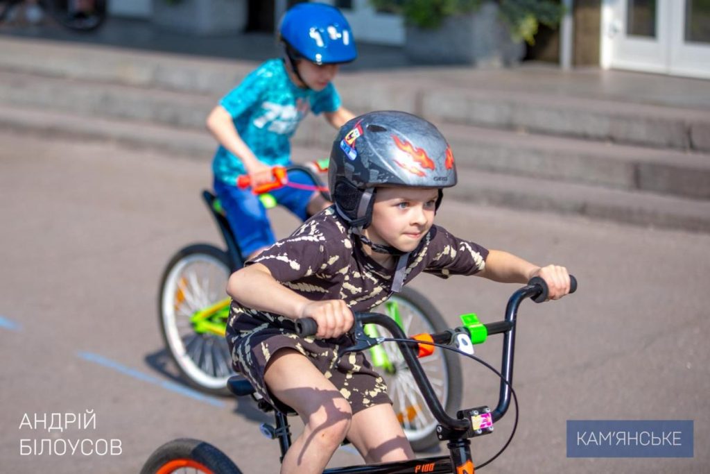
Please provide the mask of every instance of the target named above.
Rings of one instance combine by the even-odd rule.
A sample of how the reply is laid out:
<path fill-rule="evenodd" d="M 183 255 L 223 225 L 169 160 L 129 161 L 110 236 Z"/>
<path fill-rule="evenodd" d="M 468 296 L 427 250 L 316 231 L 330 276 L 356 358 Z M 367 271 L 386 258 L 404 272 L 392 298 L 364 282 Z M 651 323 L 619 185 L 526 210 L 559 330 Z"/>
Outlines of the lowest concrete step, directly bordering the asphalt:
<path fill-rule="evenodd" d="M 67 139 L 112 140 L 129 147 L 157 149 L 176 156 L 209 161 L 214 141 L 204 131 L 160 124 L 85 117 L 0 106 L 0 126 L 29 134 Z M 322 147 L 297 146 L 296 161 L 327 156 Z M 460 160 L 459 160 L 460 161 Z M 511 176 L 459 167 L 459 184 L 447 198 L 509 208 L 562 212 L 633 225 L 710 232 L 710 201 L 563 183 L 555 179 Z"/>

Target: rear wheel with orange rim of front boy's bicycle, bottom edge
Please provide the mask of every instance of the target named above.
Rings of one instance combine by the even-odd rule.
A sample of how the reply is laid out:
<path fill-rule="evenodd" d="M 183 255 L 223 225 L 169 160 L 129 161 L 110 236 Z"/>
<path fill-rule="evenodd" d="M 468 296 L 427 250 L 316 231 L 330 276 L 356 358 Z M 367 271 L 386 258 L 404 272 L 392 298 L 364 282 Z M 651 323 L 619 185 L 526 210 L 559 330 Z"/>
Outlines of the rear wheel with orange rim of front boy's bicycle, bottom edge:
<path fill-rule="evenodd" d="M 188 471 L 189 469 L 189 471 Z M 153 451 L 141 474 L 241 474 L 241 470 L 222 451 L 209 443 L 180 438 Z"/>

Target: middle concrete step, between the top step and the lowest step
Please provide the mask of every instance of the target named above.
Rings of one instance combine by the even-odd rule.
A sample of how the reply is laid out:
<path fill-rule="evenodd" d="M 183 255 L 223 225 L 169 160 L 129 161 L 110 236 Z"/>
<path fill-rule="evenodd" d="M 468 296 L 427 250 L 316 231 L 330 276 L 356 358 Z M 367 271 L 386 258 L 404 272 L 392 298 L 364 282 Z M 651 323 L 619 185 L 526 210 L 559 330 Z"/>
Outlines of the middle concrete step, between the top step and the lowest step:
<path fill-rule="evenodd" d="M 204 130 L 217 97 L 23 72 L 1 72 L 0 104 Z M 443 124 L 459 165 L 499 173 L 710 199 L 710 154 L 602 144 Z M 309 117 L 298 146 L 329 149 L 333 129 Z"/>

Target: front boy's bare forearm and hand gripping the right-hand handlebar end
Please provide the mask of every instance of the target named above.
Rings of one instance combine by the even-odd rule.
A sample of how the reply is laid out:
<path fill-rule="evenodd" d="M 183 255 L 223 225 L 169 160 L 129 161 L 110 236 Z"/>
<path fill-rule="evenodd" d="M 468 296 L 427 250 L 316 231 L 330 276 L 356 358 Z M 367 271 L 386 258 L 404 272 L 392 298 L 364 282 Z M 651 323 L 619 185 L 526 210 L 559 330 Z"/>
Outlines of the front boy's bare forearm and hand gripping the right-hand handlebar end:
<path fill-rule="evenodd" d="M 527 283 L 540 276 L 550 289 L 550 299 L 559 299 L 569 293 L 569 274 L 564 266 L 537 266 L 501 250 L 491 250 L 486 266 L 477 275 L 503 283 Z"/>

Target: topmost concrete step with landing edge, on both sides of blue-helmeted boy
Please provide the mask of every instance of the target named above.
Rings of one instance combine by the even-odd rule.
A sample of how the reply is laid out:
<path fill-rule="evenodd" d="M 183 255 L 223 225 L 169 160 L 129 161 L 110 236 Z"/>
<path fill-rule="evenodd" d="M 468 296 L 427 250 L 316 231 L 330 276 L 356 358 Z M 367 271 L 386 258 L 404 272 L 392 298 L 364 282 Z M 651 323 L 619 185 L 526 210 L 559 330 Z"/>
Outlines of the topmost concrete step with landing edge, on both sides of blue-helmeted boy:
<path fill-rule="evenodd" d="M 106 46 L 0 38 L 0 70 L 111 82 L 219 97 L 256 63 L 202 59 Z M 91 61 L 87 61 L 87 57 Z M 41 58 L 41 59 L 39 59 Z M 437 123 L 452 122 L 557 136 L 710 151 L 710 82 L 678 81 L 697 106 L 666 97 L 669 87 L 652 75 L 605 72 L 637 81 L 647 95 L 596 92 L 587 82 L 607 81 L 584 72 L 567 76 L 550 68 L 491 72 L 456 68 L 408 68 L 387 72 L 343 72 L 337 78 L 346 105 L 358 112 L 399 109 Z M 586 89 L 574 86 L 574 80 Z M 527 81 L 527 82 L 526 82 Z M 630 92 L 631 91 L 631 92 Z M 658 96 L 656 99 L 653 96 Z M 628 97 L 628 98 L 625 98 Z M 681 104 L 680 106 L 677 104 Z"/>

